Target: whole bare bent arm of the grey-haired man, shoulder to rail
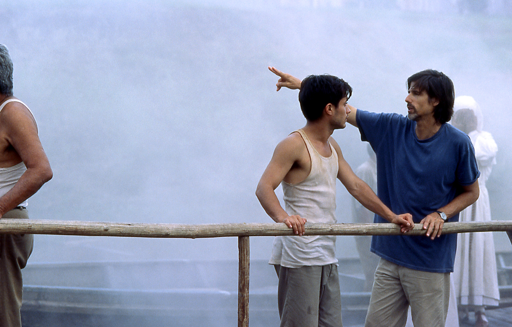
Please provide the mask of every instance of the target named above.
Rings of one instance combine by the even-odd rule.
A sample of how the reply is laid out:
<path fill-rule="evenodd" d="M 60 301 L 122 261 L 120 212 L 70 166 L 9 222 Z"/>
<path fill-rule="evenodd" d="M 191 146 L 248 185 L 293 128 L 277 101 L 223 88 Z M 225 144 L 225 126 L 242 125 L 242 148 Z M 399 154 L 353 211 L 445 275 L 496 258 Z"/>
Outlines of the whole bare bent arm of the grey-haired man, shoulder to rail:
<path fill-rule="evenodd" d="M 0 197 L 0 217 L 31 197 L 53 176 L 37 135 L 37 126 L 25 106 L 18 103 L 6 106 L 1 112 L 1 121 L 7 141 L 23 160 L 27 171 L 9 192 Z"/>

